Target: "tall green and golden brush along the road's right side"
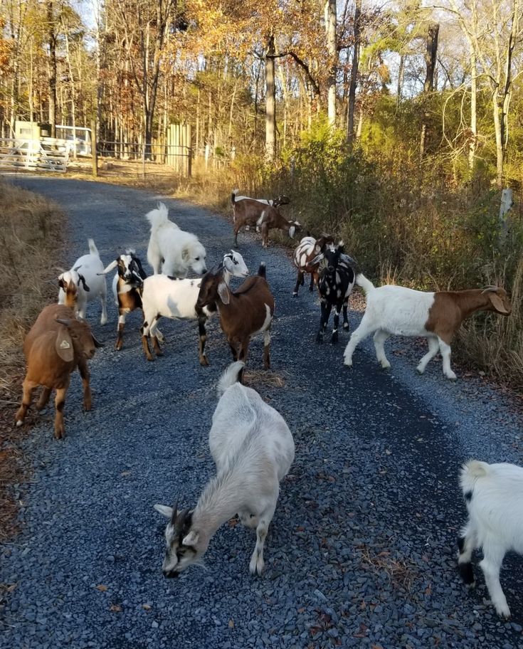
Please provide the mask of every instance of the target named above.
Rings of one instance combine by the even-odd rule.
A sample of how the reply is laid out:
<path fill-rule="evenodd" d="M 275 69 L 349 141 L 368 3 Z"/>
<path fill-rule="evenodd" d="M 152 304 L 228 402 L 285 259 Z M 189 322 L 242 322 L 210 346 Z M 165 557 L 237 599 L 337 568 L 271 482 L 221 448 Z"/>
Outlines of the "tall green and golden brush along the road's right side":
<path fill-rule="evenodd" d="M 287 218 L 304 224 L 304 233 L 328 232 L 343 238 L 364 273 L 378 283 L 420 290 L 460 290 L 503 286 L 514 310 L 505 319 L 475 315 L 455 346 L 462 362 L 497 381 L 523 389 L 522 255 L 523 211 L 512 211 L 510 236 L 501 240 L 500 194 L 472 194 L 420 169 L 416 159 L 398 167 L 349 156 L 343 137 L 319 125 L 300 147 L 267 165 L 256 156 L 238 157 L 223 169 L 198 169 L 181 181 L 177 195 L 231 213 L 231 189 L 243 194 L 287 194 Z M 273 240 L 295 245 L 286 236 Z"/>

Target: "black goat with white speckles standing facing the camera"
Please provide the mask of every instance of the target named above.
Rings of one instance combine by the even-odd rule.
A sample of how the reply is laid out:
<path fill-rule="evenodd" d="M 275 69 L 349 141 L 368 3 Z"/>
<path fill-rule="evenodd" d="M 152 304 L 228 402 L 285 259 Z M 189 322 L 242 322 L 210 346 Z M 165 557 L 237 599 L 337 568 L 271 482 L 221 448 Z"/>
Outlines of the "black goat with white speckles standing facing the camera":
<path fill-rule="evenodd" d="M 321 263 L 320 263 L 321 262 Z M 349 295 L 354 288 L 356 280 L 356 262 L 344 254 L 343 241 L 336 246 L 327 247 L 323 253 L 315 257 L 310 264 L 320 263 L 318 292 L 322 306 L 322 316 L 319 320 L 319 331 L 316 342 L 323 342 L 323 334 L 327 329 L 330 312 L 334 306 L 334 328 L 332 329 L 331 342 L 338 342 L 339 313 L 343 309 L 343 328 L 349 330 L 347 308 Z"/>

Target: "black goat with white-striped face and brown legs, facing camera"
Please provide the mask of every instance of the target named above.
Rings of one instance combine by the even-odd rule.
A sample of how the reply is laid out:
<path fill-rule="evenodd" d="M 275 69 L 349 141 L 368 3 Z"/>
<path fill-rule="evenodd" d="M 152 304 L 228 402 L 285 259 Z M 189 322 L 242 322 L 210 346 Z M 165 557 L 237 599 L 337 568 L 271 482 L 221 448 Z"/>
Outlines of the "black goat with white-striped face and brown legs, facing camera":
<path fill-rule="evenodd" d="M 107 268 L 104 268 L 103 275 L 107 275 L 111 270 L 117 269 L 117 273 L 112 280 L 112 292 L 115 296 L 115 303 L 118 307 L 118 335 L 116 339 L 116 349 L 120 351 L 124 342 L 125 318 L 128 313 L 142 309 L 142 287 L 144 279 L 147 277 L 142 262 L 135 255 L 131 248 L 125 250 L 124 255 L 120 255 L 112 261 Z M 160 340 L 162 334 L 157 331 Z"/>

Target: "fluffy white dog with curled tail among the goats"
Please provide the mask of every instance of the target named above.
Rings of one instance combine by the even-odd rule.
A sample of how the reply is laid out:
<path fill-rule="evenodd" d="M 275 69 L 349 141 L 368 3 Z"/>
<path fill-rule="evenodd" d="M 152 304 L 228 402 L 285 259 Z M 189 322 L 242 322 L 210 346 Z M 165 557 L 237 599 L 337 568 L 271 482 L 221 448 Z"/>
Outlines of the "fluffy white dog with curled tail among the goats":
<path fill-rule="evenodd" d="M 207 272 L 206 251 L 195 234 L 180 230 L 167 218 L 169 211 L 164 203 L 146 214 L 151 223 L 151 238 L 147 248 L 147 261 L 154 270 L 176 278 L 185 278 L 192 268 L 196 275 Z M 162 264 L 163 261 L 163 264 Z"/>

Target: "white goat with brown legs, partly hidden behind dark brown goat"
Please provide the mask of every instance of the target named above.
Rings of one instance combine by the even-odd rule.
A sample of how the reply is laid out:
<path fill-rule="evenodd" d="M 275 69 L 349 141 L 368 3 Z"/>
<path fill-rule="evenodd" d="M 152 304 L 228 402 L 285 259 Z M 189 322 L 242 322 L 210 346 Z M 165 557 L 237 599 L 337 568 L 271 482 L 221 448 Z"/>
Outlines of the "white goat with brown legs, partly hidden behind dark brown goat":
<path fill-rule="evenodd" d="M 246 277 L 249 270 L 240 253 L 231 250 L 223 255 L 221 267 L 227 285 L 231 277 Z M 144 311 L 144 325 L 142 327 L 142 345 L 147 360 L 153 357 L 149 349 L 148 337 L 152 337 L 154 352 L 162 356 L 162 349 L 158 344 L 159 334 L 157 323 L 160 317 L 175 320 L 198 320 L 199 327 L 199 359 L 201 365 L 208 365 L 205 354 L 206 328 L 208 317 L 216 312 L 216 305 L 208 307 L 196 306 L 201 286 L 201 279 L 176 280 L 168 275 L 152 275 L 144 279 L 142 287 L 142 309 Z"/>

